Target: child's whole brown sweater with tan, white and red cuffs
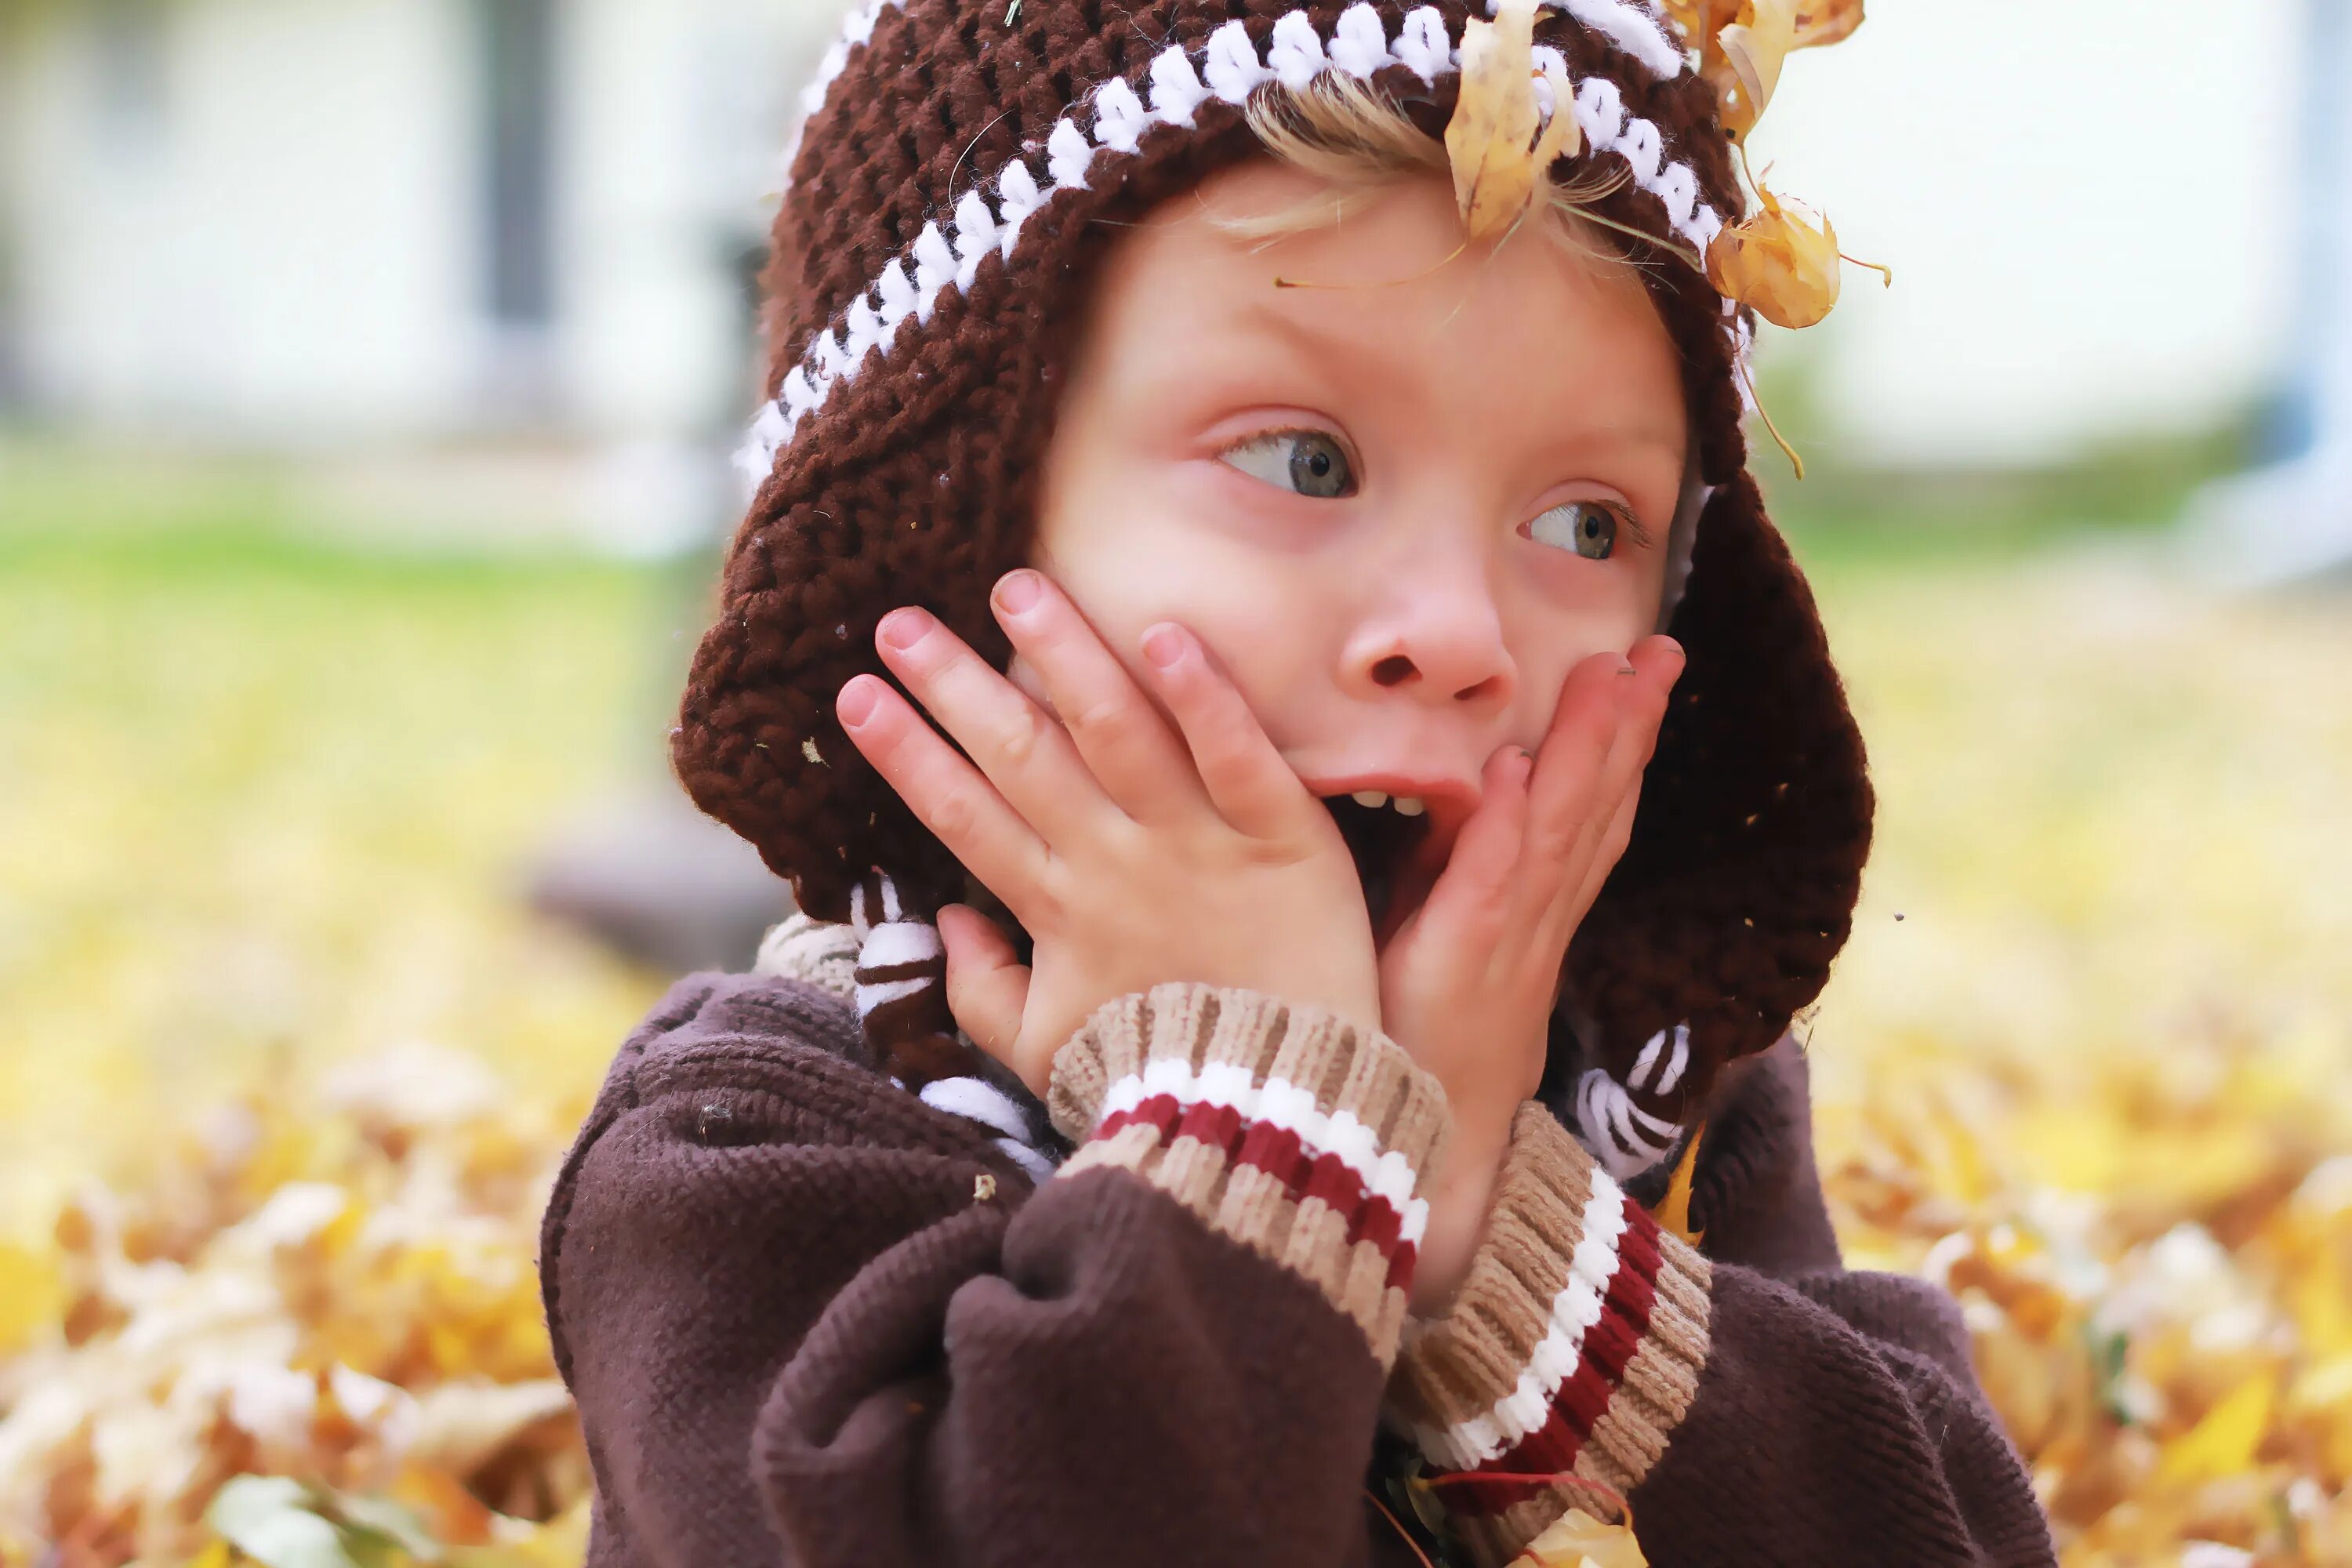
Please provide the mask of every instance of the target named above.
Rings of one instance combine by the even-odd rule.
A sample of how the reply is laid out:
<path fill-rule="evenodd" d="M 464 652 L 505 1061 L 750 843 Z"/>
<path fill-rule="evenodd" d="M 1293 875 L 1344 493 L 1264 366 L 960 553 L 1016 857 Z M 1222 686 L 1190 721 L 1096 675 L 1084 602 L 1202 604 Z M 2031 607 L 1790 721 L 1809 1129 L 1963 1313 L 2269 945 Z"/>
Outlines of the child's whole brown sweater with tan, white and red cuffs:
<path fill-rule="evenodd" d="M 1717 1088 L 1703 1248 L 1531 1103 L 1423 1321 L 1446 1112 L 1385 1037 L 1127 997 L 1061 1051 L 1075 1152 L 1033 1180 L 870 1067 L 847 959 L 680 980 L 564 1164 L 541 1272 L 593 1568 L 1414 1563 L 1376 1439 L 1613 1486 L 1658 1568 L 2053 1561 L 1955 1305 L 1839 1267 L 1792 1041 Z M 1477 1563 L 1578 1500 L 1439 1495 Z"/>

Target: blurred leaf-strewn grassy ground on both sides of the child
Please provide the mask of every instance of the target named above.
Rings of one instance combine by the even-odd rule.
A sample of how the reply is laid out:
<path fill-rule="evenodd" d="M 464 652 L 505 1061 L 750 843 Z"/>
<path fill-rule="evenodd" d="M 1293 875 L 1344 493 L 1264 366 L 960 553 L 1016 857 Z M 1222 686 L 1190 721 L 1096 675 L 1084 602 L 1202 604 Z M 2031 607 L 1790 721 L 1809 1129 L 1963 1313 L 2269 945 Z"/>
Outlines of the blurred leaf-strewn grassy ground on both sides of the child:
<path fill-rule="evenodd" d="M 263 1474 L 358 1563 L 576 1563 L 536 1218 L 661 978 L 515 879 L 659 769 L 699 569 L 16 477 L 0 1561 L 219 1568 Z M 1959 1295 L 2070 1566 L 2352 1563 L 2345 602 L 1806 555 L 1882 811 L 1806 1020 L 1851 1260 Z"/>

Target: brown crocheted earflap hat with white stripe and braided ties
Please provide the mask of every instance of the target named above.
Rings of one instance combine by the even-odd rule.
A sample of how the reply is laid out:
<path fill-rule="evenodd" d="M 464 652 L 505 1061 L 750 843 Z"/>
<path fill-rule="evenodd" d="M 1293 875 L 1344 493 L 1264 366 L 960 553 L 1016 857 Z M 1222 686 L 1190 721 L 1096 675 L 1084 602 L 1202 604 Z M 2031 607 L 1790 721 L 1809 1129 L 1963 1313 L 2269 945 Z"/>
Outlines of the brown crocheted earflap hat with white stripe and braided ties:
<path fill-rule="evenodd" d="M 1444 125 L 1468 9 L 1291 0 L 863 0 L 809 87 L 769 263 L 760 480 L 675 731 L 694 799 L 866 938 L 861 1011 L 908 1084 L 974 1072 L 929 912 L 962 867 L 842 736 L 875 623 L 922 604 L 1002 661 L 1084 280 L 1115 219 L 1258 150 L 1268 82 L 1345 73 Z M 1745 197 L 1717 99 L 1649 0 L 1552 0 L 1590 207 L 1705 254 Z M 1557 87 L 1552 89 L 1557 96 Z M 1562 174 L 1576 169 L 1564 167 Z M 1112 221 L 1105 221 L 1112 219 Z M 1548 1100 L 1616 1173 L 1828 978 L 1870 844 L 1863 745 L 1820 618 L 1745 470 L 1748 317 L 1644 268 L 1684 360 L 1696 484 L 1668 630 L 1689 651 L 1632 844 L 1569 950 Z"/>

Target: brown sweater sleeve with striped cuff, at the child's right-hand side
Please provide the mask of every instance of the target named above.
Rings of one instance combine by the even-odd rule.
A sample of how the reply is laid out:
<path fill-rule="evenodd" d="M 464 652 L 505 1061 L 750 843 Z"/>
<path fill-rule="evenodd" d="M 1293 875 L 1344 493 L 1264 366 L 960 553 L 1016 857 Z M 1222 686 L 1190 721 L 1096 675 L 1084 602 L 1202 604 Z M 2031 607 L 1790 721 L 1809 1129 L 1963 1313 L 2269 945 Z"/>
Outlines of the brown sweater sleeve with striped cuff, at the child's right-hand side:
<path fill-rule="evenodd" d="M 1390 1401 L 1456 1533 L 1505 1563 L 1583 1488 L 1651 1563 L 2053 1563 L 2025 1467 L 1929 1286 L 1778 1281 L 1661 1232 L 1541 1105 L 1519 1110 L 1463 1291 L 1406 1326 Z"/>

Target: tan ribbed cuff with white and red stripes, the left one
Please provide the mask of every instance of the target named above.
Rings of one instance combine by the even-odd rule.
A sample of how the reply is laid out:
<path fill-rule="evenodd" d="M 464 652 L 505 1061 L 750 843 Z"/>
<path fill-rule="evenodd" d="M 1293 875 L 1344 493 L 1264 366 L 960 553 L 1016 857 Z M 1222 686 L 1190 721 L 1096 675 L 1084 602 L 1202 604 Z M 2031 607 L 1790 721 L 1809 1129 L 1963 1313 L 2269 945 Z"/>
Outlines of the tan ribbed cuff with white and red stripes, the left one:
<path fill-rule="evenodd" d="M 1110 1001 L 1054 1058 L 1070 1178 L 1134 1171 L 1317 1286 L 1388 1366 L 1428 1227 L 1444 1091 L 1388 1037 L 1209 985 Z"/>

